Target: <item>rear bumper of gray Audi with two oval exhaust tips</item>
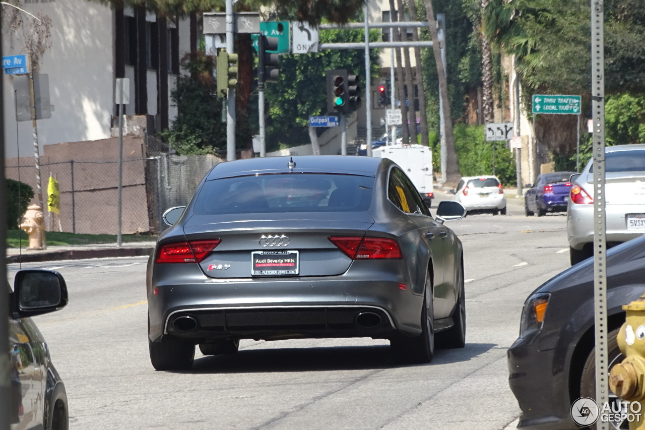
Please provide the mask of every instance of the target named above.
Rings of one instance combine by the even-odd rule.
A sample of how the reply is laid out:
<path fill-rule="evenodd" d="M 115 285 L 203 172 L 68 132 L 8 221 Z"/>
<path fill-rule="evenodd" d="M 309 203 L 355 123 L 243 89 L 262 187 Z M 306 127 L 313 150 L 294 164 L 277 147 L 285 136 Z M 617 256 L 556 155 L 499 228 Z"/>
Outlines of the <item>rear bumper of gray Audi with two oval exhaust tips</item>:
<path fill-rule="evenodd" d="M 410 285 L 402 290 L 395 273 L 374 274 L 372 279 L 344 274 L 213 280 L 196 267 L 194 276 L 183 273 L 184 279 L 193 282 L 173 283 L 166 272 L 160 279 L 167 282 L 153 283 L 156 294 L 148 297 L 150 340 L 164 334 L 200 340 L 232 336 L 384 338 L 393 332 L 421 333 L 423 297 L 413 294 Z M 177 318 L 190 330 L 181 333 Z"/>

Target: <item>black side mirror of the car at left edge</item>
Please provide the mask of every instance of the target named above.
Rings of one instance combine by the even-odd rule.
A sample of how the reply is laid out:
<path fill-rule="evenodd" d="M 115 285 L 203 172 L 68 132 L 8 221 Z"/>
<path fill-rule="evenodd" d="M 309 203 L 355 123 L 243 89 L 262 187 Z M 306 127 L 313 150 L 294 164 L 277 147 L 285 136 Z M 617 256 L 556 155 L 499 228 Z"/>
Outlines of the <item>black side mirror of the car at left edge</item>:
<path fill-rule="evenodd" d="M 59 272 L 30 269 L 15 274 L 12 304 L 21 318 L 58 311 L 67 302 L 67 285 Z"/>

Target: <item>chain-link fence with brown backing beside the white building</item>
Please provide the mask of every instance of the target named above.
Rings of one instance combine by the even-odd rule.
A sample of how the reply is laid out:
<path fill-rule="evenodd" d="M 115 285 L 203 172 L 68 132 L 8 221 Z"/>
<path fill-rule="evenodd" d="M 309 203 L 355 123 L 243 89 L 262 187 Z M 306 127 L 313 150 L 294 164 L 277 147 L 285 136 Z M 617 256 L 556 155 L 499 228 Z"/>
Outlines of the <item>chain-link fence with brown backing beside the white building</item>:
<path fill-rule="evenodd" d="M 123 234 L 158 234 L 169 207 L 188 203 L 197 185 L 221 159 L 215 156 L 166 154 L 158 138 L 146 138 L 149 156 L 123 158 Z M 6 160 L 6 177 L 27 183 L 39 203 L 34 158 Z M 117 234 L 119 159 L 74 156 L 61 160 L 41 156 L 41 194 L 48 231 Z M 58 182 L 60 213 L 47 210 L 50 176 Z"/>

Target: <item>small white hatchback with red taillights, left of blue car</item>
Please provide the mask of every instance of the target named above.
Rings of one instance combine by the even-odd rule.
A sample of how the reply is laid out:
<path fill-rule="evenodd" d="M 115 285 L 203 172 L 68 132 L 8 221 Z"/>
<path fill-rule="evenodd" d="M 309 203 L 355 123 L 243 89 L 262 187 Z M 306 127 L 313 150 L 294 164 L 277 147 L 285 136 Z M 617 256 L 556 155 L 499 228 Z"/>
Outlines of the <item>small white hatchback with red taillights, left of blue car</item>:
<path fill-rule="evenodd" d="M 450 190 L 455 199 L 471 210 L 486 210 L 493 215 L 506 215 L 506 196 L 497 176 L 465 176 L 459 180 L 457 190 Z"/>

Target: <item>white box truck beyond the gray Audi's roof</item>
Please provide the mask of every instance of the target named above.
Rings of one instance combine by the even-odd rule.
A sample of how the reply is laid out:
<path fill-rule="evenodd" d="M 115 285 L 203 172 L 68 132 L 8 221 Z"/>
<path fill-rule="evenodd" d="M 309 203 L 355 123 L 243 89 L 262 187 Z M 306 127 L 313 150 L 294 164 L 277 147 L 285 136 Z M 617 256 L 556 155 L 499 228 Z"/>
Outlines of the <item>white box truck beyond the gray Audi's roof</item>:
<path fill-rule="evenodd" d="M 389 158 L 408 175 L 419 194 L 430 207 L 434 197 L 432 184 L 432 149 L 423 145 L 388 145 L 374 148 L 372 156 Z"/>

